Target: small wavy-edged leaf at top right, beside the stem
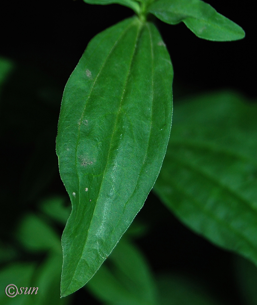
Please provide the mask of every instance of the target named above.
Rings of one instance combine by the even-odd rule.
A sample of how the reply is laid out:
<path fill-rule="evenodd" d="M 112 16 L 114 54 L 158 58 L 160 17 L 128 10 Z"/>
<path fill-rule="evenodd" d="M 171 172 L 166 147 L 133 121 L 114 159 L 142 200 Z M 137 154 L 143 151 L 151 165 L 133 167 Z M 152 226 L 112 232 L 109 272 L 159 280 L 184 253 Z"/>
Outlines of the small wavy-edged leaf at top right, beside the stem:
<path fill-rule="evenodd" d="M 239 25 L 201 0 L 159 0 L 150 5 L 148 12 L 169 24 L 183 21 L 197 37 L 207 40 L 232 41 L 245 35 Z"/>

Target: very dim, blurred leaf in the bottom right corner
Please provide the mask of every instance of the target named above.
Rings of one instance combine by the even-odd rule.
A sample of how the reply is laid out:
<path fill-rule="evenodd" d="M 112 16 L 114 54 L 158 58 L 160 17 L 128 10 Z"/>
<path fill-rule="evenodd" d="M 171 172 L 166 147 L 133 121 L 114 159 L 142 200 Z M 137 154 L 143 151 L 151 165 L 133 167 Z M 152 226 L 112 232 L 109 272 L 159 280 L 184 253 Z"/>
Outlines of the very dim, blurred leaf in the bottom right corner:
<path fill-rule="evenodd" d="M 257 305 L 257 268 L 249 260 L 235 256 L 236 279 L 246 305 Z"/>

